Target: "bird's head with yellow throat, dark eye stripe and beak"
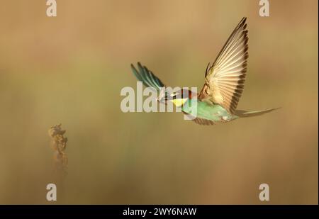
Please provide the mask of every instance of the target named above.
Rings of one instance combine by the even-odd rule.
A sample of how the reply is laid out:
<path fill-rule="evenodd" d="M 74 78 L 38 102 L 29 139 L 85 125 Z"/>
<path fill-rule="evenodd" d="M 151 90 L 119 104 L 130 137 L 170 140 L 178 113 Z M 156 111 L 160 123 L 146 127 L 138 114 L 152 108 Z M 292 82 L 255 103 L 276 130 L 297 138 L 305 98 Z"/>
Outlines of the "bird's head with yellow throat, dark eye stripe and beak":
<path fill-rule="evenodd" d="M 188 89 L 180 89 L 179 91 L 161 91 L 158 100 L 161 103 L 167 104 L 167 101 L 171 101 L 175 106 L 183 106 L 191 96 L 194 95 Z"/>

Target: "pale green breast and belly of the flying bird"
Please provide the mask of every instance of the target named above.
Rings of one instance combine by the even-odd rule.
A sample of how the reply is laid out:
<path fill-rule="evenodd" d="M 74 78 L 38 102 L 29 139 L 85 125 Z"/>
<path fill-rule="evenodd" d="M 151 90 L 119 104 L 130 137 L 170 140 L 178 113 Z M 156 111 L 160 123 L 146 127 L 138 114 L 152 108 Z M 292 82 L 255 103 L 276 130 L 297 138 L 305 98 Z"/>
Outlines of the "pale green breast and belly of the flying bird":
<path fill-rule="evenodd" d="M 225 108 L 218 104 L 210 104 L 198 100 L 186 101 L 181 107 L 181 110 L 185 113 L 191 114 L 192 116 L 213 121 L 227 121 L 237 118 L 237 116 L 231 115 L 230 113 L 228 113 L 228 111 L 225 110 Z"/>

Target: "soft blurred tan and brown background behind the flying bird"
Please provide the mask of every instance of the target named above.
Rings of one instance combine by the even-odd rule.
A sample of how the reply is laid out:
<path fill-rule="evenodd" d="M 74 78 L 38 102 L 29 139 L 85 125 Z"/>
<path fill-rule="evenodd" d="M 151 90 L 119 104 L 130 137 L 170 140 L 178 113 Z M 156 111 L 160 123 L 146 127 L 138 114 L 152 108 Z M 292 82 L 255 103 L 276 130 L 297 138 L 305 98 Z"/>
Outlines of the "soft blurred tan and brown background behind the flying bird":
<path fill-rule="evenodd" d="M 0 203 L 318 204 L 318 1 L 0 1 Z M 172 86 L 203 85 L 243 16 L 238 108 L 265 116 L 200 126 L 181 113 L 122 113 L 141 61 Z M 68 174 L 47 130 L 62 123 Z"/>

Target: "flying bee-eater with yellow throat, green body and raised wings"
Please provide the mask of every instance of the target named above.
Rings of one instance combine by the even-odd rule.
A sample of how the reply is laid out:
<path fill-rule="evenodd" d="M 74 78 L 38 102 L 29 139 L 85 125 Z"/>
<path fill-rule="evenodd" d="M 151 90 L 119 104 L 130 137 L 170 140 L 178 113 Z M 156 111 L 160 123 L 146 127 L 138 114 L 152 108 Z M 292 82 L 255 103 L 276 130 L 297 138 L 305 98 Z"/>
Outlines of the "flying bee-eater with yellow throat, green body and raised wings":
<path fill-rule="evenodd" d="M 213 125 L 228 122 L 242 117 L 259 116 L 274 111 L 270 108 L 262 111 L 237 110 L 237 104 L 244 89 L 247 72 L 248 37 L 246 18 L 242 18 L 233 33 L 220 50 L 215 62 L 208 63 L 205 72 L 205 84 L 199 94 L 188 89 L 177 92 L 162 93 L 166 86 L 147 67 L 138 62 L 138 69 L 131 64 L 135 77 L 145 86 L 159 91 L 158 101 L 172 101 L 186 115 L 194 117 L 194 122 L 201 125 Z M 196 98 L 197 110 L 193 115 L 192 98 Z"/>

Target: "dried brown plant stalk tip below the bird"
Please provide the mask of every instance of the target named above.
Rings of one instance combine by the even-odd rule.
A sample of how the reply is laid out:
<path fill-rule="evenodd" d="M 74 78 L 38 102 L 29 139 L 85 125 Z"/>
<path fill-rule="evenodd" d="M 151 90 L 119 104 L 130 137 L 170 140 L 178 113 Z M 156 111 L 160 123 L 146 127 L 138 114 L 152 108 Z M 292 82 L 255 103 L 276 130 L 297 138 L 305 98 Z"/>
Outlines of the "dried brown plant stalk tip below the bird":
<path fill-rule="evenodd" d="M 49 130 L 49 135 L 52 137 L 51 145 L 53 150 L 55 150 L 55 167 L 67 173 L 67 154 L 65 154 L 67 137 L 63 136 L 66 130 L 62 130 L 61 125 L 53 125 Z"/>

